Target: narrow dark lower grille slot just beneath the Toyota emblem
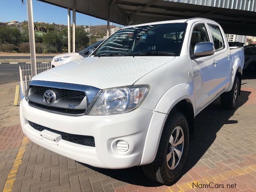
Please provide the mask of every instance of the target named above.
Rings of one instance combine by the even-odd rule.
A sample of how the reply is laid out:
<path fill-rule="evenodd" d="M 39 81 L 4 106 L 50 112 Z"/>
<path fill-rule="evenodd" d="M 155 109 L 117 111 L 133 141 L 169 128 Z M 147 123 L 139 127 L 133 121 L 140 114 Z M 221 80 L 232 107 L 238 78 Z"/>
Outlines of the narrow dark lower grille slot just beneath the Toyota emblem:
<path fill-rule="evenodd" d="M 58 108 L 58 107 L 52 107 L 48 105 L 41 105 L 32 101 L 28 101 L 28 104 L 30 104 L 30 106 L 33 106 L 35 108 L 43 109 L 49 112 L 56 112 L 58 114 L 64 114 L 64 115 L 66 114 L 66 115 L 74 115 L 74 116 L 85 114 L 85 109 Z"/>

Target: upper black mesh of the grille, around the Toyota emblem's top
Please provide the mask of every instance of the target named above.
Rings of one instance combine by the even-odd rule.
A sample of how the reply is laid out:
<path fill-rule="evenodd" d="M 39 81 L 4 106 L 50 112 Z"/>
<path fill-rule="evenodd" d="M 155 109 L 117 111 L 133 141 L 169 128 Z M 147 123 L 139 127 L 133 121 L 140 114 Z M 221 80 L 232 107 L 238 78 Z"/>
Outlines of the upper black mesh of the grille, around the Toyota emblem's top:
<path fill-rule="evenodd" d="M 85 97 L 85 92 L 83 91 L 76 91 L 76 90 L 68 90 L 68 89 L 60 89 L 60 88 L 50 88 L 50 87 L 43 87 L 43 86 L 34 86 L 31 85 L 30 88 L 33 89 L 34 94 L 38 95 L 44 95 L 44 92 L 46 92 L 49 89 L 54 89 L 60 94 L 60 97 L 63 100 L 68 101 L 79 101 L 81 102 Z"/>

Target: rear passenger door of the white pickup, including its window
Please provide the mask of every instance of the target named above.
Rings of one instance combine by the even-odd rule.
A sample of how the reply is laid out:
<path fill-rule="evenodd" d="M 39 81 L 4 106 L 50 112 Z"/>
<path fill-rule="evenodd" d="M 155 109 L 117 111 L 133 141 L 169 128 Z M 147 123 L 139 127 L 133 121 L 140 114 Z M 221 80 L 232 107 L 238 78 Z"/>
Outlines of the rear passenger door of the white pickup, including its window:
<path fill-rule="evenodd" d="M 224 39 L 224 32 L 221 31 L 219 26 L 208 23 L 208 28 L 216 51 L 216 89 L 218 93 L 221 93 L 223 92 L 224 89 L 226 89 L 230 82 L 230 49 L 227 45 L 227 42 Z"/>

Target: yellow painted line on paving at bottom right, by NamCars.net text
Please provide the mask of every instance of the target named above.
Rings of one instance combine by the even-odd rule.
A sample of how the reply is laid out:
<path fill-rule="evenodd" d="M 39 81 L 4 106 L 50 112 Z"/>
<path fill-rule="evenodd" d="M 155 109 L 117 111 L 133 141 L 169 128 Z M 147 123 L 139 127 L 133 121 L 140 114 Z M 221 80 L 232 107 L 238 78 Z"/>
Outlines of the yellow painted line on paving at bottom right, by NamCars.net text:
<path fill-rule="evenodd" d="M 197 181 L 194 180 L 194 181 L 178 184 L 176 186 L 178 188 L 180 188 L 181 192 L 184 192 L 184 191 L 188 191 L 188 190 L 192 189 L 193 188 L 193 183 L 194 184 L 196 184 L 196 183 L 198 183 L 198 184 L 209 184 L 209 182 L 213 182 L 213 183 L 219 182 L 220 183 L 220 182 L 222 182 L 224 180 L 227 180 L 229 178 L 239 176 L 239 175 L 249 174 L 249 173 L 252 173 L 254 171 L 256 171 L 256 165 L 250 165 L 250 166 L 247 166 L 247 167 L 244 167 L 244 168 L 239 168 L 239 169 L 236 169 L 236 170 L 224 172 L 222 174 L 210 176 L 210 177 L 207 177 L 207 178 L 202 178 L 202 179 L 197 180 Z M 170 187 L 168 187 L 168 189 L 172 192 Z"/>

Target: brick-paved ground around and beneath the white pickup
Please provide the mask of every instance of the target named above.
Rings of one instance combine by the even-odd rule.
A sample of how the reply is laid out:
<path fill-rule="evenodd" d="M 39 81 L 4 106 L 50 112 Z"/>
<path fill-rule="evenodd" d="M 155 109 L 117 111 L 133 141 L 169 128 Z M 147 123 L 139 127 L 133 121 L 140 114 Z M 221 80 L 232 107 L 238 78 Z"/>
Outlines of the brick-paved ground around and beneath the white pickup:
<path fill-rule="evenodd" d="M 248 78 L 251 78 L 250 76 Z M 140 167 L 107 170 L 80 164 L 28 141 L 13 191 L 256 191 L 256 80 L 242 81 L 236 110 L 217 99 L 196 117 L 186 166 L 172 186 L 146 178 Z M 20 126 L 0 129 L 0 191 L 3 190 L 24 135 Z M 19 152 L 20 153 L 20 152 Z M 16 159 L 16 160 L 15 160 Z M 14 162 L 15 161 L 15 162 Z M 10 179 L 9 179 L 10 180 Z M 200 188 L 200 184 L 236 188 Z M 193 186 L 194 183 L 194 186 Z M 198 188 L 195 185 L 198 185 Z M 194 187 L 194 188 L 193 188 Z"/>

